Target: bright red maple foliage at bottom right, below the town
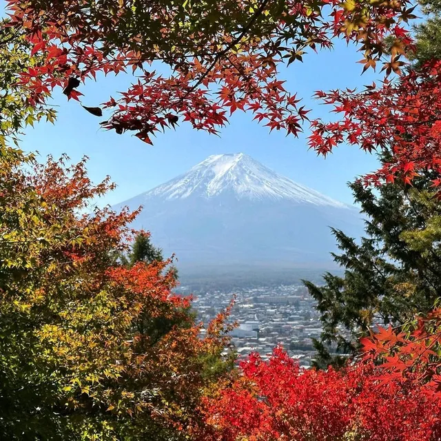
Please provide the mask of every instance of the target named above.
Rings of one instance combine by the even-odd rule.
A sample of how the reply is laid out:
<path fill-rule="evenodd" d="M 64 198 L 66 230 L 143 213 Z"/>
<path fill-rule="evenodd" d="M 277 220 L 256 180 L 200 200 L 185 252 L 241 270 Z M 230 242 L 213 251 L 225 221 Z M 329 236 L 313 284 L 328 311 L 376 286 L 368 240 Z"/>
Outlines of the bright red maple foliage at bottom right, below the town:
<path fill-rule="evenodd" d="M 378 368 L 301 369 L 282 349 L 252 354 L 206 399 L 205 440 L 436 441 L 441 407 L 418 380 L 381 387 Z"/>

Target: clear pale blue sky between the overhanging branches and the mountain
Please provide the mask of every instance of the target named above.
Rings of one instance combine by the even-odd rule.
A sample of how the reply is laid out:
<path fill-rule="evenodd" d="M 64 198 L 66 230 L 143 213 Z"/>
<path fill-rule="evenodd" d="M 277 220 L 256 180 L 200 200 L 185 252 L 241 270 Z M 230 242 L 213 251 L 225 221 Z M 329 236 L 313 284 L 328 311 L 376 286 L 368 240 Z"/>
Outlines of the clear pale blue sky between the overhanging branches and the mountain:
<path fill-rule="evenodd" d="M 354 88 L 370 83 L 376 78 L 373 72 L 361 74 L 362 65 L 356 63 L 361 55 L 355 48 L 338 42 L 331 51 L 305 55 L 304 63 L 293 63 L 284 72 L 285 88 L 298 92 L 312 116 L 329 119 L 331 107 L 319 105 L 311 99 L 315 90 Z M 380 76 L 380 75 L 378 75 Z M 96 106 L 107 101 L 110 94 L 123 91 L 132 81 L 129 75 L 99 79 L 81 85 L 79 90 L 84 105 Z M 67 101 L 61 90 L 55 91 L 54 104 L 58 105 L 58 121 L 55 125 L 40 123 L 26 130 L 23 148 L 38 151 L 42 157 L 68 154 L 72 161 L 83 155 L 90 157 L 88 170 L 95 182 L 107 174 L 118 187 L 100 201 L 101 204 L 119 203 L 145 192 L 203 161 L 210 154 L 244 152 L 267 167 L 298 183 L 319 192 L 351 203 L 347 181 L 355 176 L 376 170 L 375 156 L 365 154 L 356 147 L 339 147 L 324 159 L 307 150 L 305 134 L 295 139 L 281 132 L 269 134 L 267 127 L 252 121 L 251 114 L 237 111 L 220 138 L 204 132 L 196 132 L 188 123 L 158 134 L 154 146 L 147 145 L 130 133 L 118 135 L 99 129 L 103 119 L 88 114 L 76 101 Z"/>

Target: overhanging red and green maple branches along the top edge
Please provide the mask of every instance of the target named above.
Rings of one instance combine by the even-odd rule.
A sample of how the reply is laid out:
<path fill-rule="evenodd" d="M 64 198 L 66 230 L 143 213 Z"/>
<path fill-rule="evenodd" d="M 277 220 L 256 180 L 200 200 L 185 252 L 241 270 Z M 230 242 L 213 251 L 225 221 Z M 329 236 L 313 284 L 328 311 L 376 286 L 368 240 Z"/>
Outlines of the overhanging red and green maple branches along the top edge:
<path fill-rule="evenodd" d="M 3 26 L 41 57 L 17 72 L 30 106 L 44 105 L 57 87 L 79 100 L 81 82 L 131 69 L 138 80 L 104 104 L 112 114 L 101 124 L 120 134 L 132 130 L 147 143 L 178 121 L 216 133 L 237 109 L 296 135 L 307 110 L 285 90 L 278 66 L 339 37 L 359 43 L 365 65 L 373 66 L 391 35 L 393 68 L 410 44 L 402 22 L 414 17 L 407 0 L 9 0 L 8 11 Z M 170 76 L 151 70 L 156 60 Z M 102 114 L 100 107 L 85 109 Z"/>

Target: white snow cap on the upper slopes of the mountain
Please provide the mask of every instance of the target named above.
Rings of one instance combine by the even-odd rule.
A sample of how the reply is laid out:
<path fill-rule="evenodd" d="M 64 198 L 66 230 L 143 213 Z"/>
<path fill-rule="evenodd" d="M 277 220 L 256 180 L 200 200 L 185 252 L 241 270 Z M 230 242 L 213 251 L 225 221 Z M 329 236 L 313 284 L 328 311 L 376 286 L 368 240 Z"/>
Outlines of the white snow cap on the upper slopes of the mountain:
<path fill-rule="evenodd" d="M 220 194 L 233 194 L 237 199 L 289 199 L 296 203 L 347 207 L 313 189 L 280 176 L 243 153 L 208 156 L 187 173 L 155 187 L 143 194 L 143 197 L 170 200 L 190 196 L 213 198 Z"/>

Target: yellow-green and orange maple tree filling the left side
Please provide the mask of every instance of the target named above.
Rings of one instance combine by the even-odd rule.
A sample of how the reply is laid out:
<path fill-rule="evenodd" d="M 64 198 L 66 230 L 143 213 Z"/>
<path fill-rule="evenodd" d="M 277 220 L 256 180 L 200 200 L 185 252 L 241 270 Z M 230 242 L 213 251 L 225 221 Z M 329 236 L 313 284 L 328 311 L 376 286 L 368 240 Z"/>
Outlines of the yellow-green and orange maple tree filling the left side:
<path fill-rule="evenodd" d="M 225 314 L 199 338 L 170 260 L 119 263 L 136 212 L 81 214 L 112 183 L 64 161 L 0 150 L 0 438 L 181 439 Z"/>

